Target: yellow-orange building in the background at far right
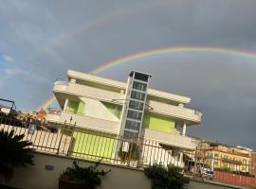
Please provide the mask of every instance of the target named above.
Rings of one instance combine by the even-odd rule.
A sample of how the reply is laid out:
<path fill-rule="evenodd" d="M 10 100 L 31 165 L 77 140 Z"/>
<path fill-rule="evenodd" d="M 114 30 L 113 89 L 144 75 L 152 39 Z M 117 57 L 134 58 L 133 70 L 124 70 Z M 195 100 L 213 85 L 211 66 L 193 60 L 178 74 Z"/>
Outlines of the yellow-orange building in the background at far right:
<path fill-rule="evenodd" d="M 228 146 L 203 142 L 198 147 L 199 155 L 214 169 L 248 172 L 252 149 L 243 146 Z"/>

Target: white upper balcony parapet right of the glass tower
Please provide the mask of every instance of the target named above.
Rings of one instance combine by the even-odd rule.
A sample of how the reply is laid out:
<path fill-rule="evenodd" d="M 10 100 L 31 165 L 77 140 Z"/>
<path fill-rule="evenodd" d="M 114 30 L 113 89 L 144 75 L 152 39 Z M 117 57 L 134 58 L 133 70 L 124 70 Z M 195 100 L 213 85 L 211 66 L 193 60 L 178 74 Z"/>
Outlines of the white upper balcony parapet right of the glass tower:
<path fill-rule="evenodd" d="M 169 116 L 173 116 L 175 118 L 192 121 L 195 124 L 200 123 L 202 119 L 202 113 L 192 109 L 177 107 L 174 105 L 161 103 L 154 100 L 149 100 L 148 105 L 150 107 L 148 108 L 149 112 L 166 114 Z"/>

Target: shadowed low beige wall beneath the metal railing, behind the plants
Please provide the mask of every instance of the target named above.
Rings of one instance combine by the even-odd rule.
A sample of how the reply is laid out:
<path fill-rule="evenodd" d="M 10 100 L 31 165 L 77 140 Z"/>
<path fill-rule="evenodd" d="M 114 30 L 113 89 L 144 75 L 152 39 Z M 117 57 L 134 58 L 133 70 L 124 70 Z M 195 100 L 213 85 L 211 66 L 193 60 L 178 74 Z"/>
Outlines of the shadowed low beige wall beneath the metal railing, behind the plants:
<path fill-rule="evenodd" d="M 18 167 L 14 170 L 10 186 L 16 186 L 26 189 L 55 189 L 58 188 L 58 179 L 63 173 L 65 167 L 71 166 L 74 160 L 58 157 L 55 155 L 46 155 L 34 153 L 35 165 L 27 167 Z M 79 161 L 79 165 L 88 166 L 92 163 Z M 52 165 L 53 170 L 46 170 L 46 165 Z M 101 189 L 150 189 L 151 183 L 144 173 L 133 168 L 101 164 L 100 169 L 111 169 L 111 173 L 102 179 Z M 212 183 L 192 180 L 188 186 L 189 189 L 225 189 L 228 186 L 220 186 Z"/>

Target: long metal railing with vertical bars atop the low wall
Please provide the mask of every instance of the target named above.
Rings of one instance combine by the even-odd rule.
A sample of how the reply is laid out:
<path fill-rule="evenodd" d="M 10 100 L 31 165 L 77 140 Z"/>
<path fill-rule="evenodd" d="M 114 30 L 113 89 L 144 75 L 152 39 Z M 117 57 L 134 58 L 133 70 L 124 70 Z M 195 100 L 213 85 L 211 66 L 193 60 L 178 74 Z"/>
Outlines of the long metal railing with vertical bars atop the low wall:
<path fill-rule="evenodd" d="M 36 151 L 82 160 L 143 168 L 152 163 L 174 164 L 184 175 L 230 185 L 256 186 L 255 165 L 214 157 L 204 148 L 185 150 L 144 138 L 124 138 L 99 130 L 81 129 L 76 124 L 47 124 L 0 116 L 0 129 L 24 134 Z M 245 162 L 245 161 L 244 161 Z"/>

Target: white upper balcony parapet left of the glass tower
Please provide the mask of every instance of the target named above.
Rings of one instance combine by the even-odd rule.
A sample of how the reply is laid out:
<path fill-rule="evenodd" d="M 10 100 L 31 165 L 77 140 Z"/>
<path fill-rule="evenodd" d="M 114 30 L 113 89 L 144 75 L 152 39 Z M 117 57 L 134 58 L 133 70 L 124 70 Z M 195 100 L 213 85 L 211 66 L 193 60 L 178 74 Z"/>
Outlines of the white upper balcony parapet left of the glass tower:
<path fill-rule="evenodd" d="M 108 91 L 105 89 L 95 88 L 87 85 L 65 82 L 65 81 L 55 81 L 53 92 L 55 94 L 74 94 L 79 96 L 85 96 L 90 98 L 96 98 L 99 100 L 112 102 L 114 99 L 124 98 L 124 94 L 119 94 L 116 92 Z M 118 102 L 118 101 L 116 101 Z"/>

